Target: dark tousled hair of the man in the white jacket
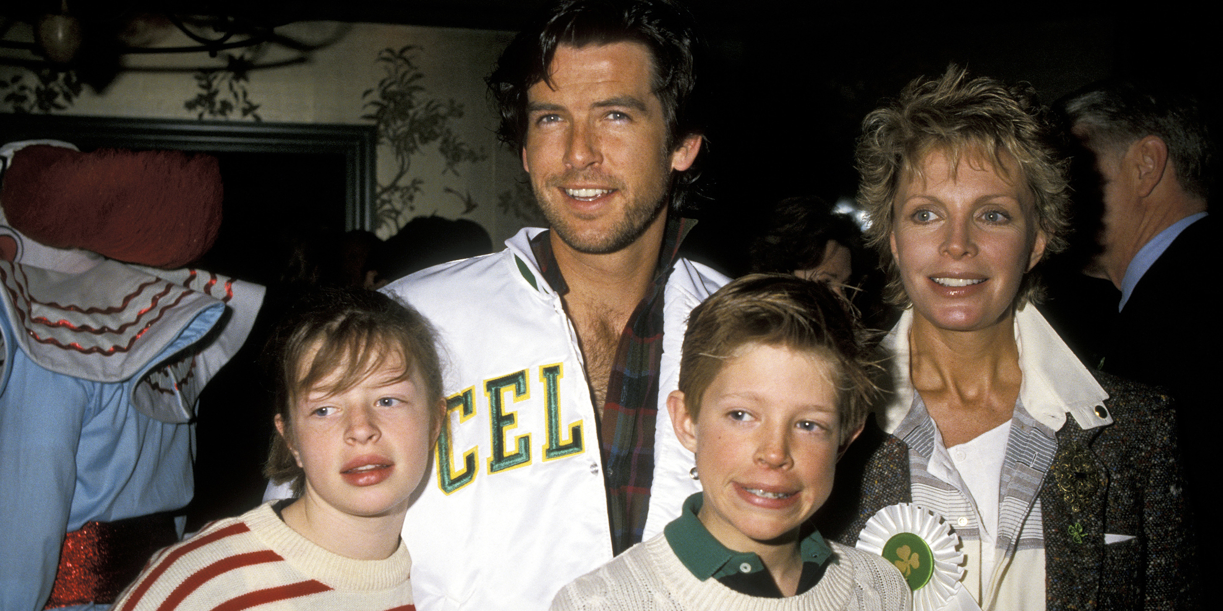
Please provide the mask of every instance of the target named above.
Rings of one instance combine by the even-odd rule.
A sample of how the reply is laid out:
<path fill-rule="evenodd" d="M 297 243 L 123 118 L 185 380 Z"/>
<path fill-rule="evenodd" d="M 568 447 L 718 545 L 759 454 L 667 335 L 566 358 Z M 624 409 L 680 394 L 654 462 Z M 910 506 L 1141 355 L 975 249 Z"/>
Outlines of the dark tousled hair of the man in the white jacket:
<path fill-rule="evenodd" d="M 667 121 L 667 150 L 703 133 L 696 92 L 700 40 L 692 16 L 671 0 L 564 0 L 547 10 L 534 26 L 519 33 L 501 53 L 488 77 L 488 88 L 501 115 L 498 134 L 515 150 L 526 143 L 527 90 L 552 84 L 548 66 L 560 45 L 582 48 L 634 42 L 649 49 L 653 92 Z M 671 202 L 679 205 L 697 177 L 680 172 Z"/>

